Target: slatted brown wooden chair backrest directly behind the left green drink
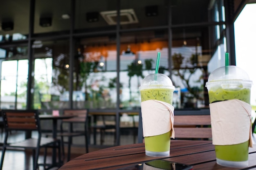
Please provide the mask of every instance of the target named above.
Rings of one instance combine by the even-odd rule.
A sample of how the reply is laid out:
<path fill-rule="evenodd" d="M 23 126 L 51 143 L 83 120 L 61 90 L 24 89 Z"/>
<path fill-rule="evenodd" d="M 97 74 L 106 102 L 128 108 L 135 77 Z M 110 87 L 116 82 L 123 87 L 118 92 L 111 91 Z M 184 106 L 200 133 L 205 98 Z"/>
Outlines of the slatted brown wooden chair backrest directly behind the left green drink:
<path fill-rule="evenodd" d="M 210 110 L 175 110 L 175 139 L 211 139 Z M 143 142 L 142 118 L 139 113 L 138 142 Z"/>

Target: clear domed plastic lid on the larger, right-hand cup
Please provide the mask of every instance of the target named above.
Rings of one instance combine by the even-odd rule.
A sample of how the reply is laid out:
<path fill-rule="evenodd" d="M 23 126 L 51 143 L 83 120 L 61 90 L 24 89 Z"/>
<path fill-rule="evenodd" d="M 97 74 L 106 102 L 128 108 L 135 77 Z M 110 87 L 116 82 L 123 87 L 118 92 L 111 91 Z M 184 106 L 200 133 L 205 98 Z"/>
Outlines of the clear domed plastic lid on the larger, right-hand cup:
<path fill-rule="evenodd" d="M 220 83 L 220 82 L 225 82 L 225 83 L 235 83 L 235 82 L 243 82 L 243 84 L 246 84 L 247 86 L 252 85 L 252 81 L 250 81 L 250 78 L 248 74 L 245 72 L 245 70 L 234 66 L 234 65 L 229 65 L 229 66 L 224 66 L 217 68 L 214 70 L 209 78 L 208 82 L 206 83 L 206 87 L 208 85 Z"/>

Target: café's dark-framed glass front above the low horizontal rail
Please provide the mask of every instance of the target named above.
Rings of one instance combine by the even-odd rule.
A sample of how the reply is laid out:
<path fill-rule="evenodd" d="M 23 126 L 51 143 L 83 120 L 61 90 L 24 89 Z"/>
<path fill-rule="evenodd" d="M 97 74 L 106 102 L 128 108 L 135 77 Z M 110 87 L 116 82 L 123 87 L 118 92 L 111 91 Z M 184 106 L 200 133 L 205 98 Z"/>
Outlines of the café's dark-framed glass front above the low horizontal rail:
<path fill-rule="evenodd" d="M 208 75 L 227 51 L 235 64 L 231 31 L 241 3 L 2 1 L 0 108 L 138 110 L 157 52 L 159 73 L 175 85 L 175 109 L 208 107 Z"/>

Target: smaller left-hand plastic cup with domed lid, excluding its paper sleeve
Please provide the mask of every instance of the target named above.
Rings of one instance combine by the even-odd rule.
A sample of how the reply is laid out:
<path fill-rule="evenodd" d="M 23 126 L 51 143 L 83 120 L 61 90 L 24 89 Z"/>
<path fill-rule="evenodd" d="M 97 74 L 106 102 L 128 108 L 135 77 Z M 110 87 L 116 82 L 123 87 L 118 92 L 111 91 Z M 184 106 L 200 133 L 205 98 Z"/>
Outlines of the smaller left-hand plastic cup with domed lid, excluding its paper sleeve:
<path fill-rule="evenodd" d="M 164 74 L 150 74 L 146 76 L 141 86 L 141 102 L 146 100 L 159 100 L 168 104 L 173 104 L 174 86 L 171 79 Z M 143 119 L 143 118 L 142 118 Z M 144 137 L 146 155 L 153 157 L 163 157 L 170 155 L 171 131 Z"/>

